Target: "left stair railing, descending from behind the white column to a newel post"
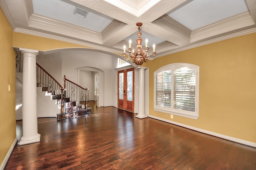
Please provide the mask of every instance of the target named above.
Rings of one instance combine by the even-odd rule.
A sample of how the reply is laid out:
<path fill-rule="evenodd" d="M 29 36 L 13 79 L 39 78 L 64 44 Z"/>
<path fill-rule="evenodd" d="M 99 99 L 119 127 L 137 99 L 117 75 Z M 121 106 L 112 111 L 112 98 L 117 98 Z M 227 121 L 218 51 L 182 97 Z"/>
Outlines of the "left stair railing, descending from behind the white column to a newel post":
<path fill-rule="evenodd" d="M 64 113 L 64 88 L 42 66 L 36 63 L 36 86 L 53 95 L 57 104 L 61 104 L 60 113 Z"/>

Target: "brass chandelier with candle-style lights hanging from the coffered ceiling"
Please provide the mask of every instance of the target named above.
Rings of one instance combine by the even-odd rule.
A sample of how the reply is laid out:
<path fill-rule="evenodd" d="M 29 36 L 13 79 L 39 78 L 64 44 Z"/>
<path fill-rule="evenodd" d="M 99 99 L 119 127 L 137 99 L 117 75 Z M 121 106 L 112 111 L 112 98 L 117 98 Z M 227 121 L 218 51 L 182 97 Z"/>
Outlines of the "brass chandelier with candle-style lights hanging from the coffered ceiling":
<path fill-rule="evenodd" d="M 155 44 L 153 44 L 153 58 L 151 58 L 149 55 L 148 55 L 148 39 L 146 39 L 145 41 L 145 48 L 144 50 L 142 49 L 142 38 L 140 37 L 141 36 L 141 32 L 140 32 L 140 29 L 141 29 L 141 26 L 142 26 L 142 23 L 141 22 L 137 22 L 136 25 L 138 26 L 138 38 L 136 38 L 136 42 L 137 42 L 137 46 L 136 48 L 137 49 L 132 49 L 131 48 L 131 45 L 132 45 L 132 41 L 130 40 L 129 41 L 129 48 L 128 48 L 128 52 L 129 52 L 129 56 L 128 58 L 126 58 L 126 47 L 124 45 L 124 53 L 122 54 L 124 56 L 124 60 L 125 61 L 128 61 L 132 58 L 132 62 L 135 63 L 136 65 L 138 65 L 138 69 L 140 69 L 140 66 L 145 62 L 147 62 L 147 60 L 154 60 L 155 56 L 156 56 L 156 46 Z"/>

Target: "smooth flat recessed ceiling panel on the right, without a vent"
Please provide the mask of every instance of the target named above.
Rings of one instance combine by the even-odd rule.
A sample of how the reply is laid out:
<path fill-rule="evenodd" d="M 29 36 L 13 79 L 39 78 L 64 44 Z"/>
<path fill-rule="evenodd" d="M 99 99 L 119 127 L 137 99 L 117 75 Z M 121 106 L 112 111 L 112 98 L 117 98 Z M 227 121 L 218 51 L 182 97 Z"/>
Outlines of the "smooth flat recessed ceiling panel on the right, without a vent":
<path fill-rule="evenodd" d="M 168 16 L 193 31 L 246 11 L 244 0 L 193 0 Z"/>

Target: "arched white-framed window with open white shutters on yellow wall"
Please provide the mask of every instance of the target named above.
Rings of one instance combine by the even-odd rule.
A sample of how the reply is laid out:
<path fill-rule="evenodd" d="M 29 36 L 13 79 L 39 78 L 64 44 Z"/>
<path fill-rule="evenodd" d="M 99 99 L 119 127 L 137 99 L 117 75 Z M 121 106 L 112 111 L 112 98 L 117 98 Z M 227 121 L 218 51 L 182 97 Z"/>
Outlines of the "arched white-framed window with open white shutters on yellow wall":
<path fill-rule="evenodd" d="M 175 63 L 154 72 L 154 109 L 198 118 L 199 66 Z"/>

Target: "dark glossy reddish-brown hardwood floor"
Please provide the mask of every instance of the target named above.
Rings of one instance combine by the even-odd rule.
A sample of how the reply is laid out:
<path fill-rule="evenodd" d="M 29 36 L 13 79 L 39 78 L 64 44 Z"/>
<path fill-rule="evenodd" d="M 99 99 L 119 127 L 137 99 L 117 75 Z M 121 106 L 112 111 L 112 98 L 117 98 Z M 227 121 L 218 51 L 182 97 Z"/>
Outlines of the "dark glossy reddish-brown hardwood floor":
<path fill-rule="evenodd" d="M 18 146 L 6 170 L 256 170 L 256 148 L 115 107 L 91 115 L 38 118 L 41 141 Z M 22 121 L 17 121 L 22 137 Z"/>

